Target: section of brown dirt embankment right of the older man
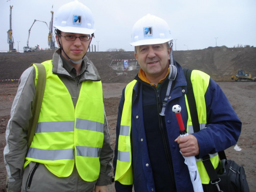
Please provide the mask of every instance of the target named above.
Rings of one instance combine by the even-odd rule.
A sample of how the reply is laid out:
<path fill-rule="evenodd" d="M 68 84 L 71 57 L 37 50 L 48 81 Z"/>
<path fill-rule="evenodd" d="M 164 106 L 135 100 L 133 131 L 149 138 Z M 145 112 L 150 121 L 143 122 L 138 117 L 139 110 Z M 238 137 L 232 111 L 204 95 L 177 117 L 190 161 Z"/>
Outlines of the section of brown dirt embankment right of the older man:
<path fill-rule="evenodd" d="M 229 81 L 231 75 L 244 70 L 256 76 L 256 48 L 209 47 L 203 50 L 177 51 L 174 58 L 184 68 L 198 69 L 215 80 Z"/>

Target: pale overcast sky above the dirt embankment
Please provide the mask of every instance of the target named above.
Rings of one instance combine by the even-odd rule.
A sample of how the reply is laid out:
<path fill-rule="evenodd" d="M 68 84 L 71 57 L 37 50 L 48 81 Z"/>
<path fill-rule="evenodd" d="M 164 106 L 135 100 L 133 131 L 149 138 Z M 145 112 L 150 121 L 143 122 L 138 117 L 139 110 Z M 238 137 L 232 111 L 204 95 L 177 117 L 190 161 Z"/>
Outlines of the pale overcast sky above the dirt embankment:
<path fill-rule="evenodd" d="M 8 51 L 10 5 L 14 48 L 21 52 L 27 45 L 28 31 L 34 20 L 50 27 L 51 11 L 71 0 L 0 0 L 0 52 Z M 159 16 L 169 24 L 174 50 L 239 45 L 256 47 L 256 0 L 80 0 L 91 9 L 95 19 L 93 45 L 99 51 L 124 49 L 133 51 L 131 30 L 147 13 Z M 53 8 L 52 8 L 53 6 Z M 29 46 L 48 46 L 48 27 L 35 22 Z M 19 41 L 19 42 L 17 42 Z M 97 42 L 99 41 L 99 42 Z M 176 42 L 176 44 L 175 44 Z M 19 47 L 19 48 L 18 48 Z"/>

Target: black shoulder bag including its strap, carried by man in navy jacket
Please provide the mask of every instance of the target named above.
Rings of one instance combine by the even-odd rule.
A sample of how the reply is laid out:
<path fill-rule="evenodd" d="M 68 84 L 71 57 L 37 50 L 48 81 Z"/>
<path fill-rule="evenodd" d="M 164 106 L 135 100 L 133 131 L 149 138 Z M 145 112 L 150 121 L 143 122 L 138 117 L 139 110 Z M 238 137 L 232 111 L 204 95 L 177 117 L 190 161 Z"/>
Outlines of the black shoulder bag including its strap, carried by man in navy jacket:
<path fill-rule="evenodd" d="M 190 80 L 192 70 L 183 69 L 187 81 L 187 100 L 194 133 L 200 131 L 199 120 L 197 116 L 196 100 Z M 227 160 L 224 151 L 218 152 L 220 162 L 215 170 L 211 164 L 209 155 L 202 158 L 203 164 L 210 178 L 210 183 L 204 185 L 206 191 L 223 191 L 223 192 L 249 192 L 249 186 L 246 180 L 244 167 L 238 165 L 232 160 Z"/>

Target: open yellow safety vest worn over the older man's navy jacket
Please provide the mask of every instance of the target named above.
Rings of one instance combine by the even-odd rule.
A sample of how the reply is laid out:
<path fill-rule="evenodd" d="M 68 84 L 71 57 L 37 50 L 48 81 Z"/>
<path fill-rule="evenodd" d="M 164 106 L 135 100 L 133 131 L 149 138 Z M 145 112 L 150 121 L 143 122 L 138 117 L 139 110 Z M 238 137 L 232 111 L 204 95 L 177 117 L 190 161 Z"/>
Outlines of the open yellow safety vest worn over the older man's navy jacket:
<path fill-rule="evenodd" d="M 191 83 L 193 86 L 193 91 L 197 104 L 198 118 L 200 129 L 204 129 L 206 125 L 206 104 L 204 95 L 207 91 L 209 84 L 209 75 L 198 71 L 193 70 L 191 73 Z M 133 184 L 133 170 L 132 170 L 132 150 L 131 150 L 131 116 L 132 116 L 132 95 L 133 95 L 133 87 L 137 80 L 133 80 L 129 84 L 127 84 L 125 88 L 125 100 L 123 105 L 123 112 L 121 118 L 121 126 L 120 126 L 120 134 L 118 138 L 118 157 L 117 157 L 117 165 L 116 165 L 116 175 L 115 180 L 119 181 L 124 185 Z M 204 94 L 202 94 L 204 93 Z M 191 121 L 191 116 L 189 112 L 188 102 L 185 95 L 185 101 L 187 106 L 187 133 L 194 133 L 193 125 Z M 217 168 L 219 163 L 218 154 L 209 154 L 210 160 L 215 168 Z M 129 160 L 129 161 L 128 161 Z M 197 161 L 197 167 L 199 171 L 199 175 L 201 178 L 201 182 L 203 184 L 208 184 L 210 179 L 206 172 L 206 169 L 201 160 Z"/>

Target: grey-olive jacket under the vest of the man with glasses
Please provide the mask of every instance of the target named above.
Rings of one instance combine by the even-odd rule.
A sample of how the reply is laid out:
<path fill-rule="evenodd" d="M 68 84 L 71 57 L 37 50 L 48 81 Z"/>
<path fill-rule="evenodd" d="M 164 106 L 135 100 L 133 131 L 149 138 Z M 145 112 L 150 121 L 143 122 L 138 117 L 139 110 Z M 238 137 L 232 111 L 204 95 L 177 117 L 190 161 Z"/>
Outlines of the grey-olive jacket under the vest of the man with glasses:
<path fill-rule="evenodd" d="M 67 60 L 62 61 L 60 50 L 53 54 L 52 72 L 62 80 L 70 92 L 70 96 L 76 105 L 81 82 L 85 80 L 99 81 L 100 76 L 93 63 L 84 57 L 80 80 L 76 81 L 72 75 L 63 68 L 69 65 Z M 6 129 L 6 146 L 4 149 L 4 161 L 8 174 L 8 189 L 23 191 L 92 191 L 95 185 L 111 184 L 113 149 L 110 146 L 110 135 L 106 118 L 104 120 L 104 142 L 100 154 L 100 175 L 94 182 L 83 181 L 74 166 L 73 173 L 67 178 L 58 178 L 43 165 L 39 164 L 33 175 L 30 188 L 27 188 L 30 172 L 35 168 L 31 162 L 25 170 L 23 165 L 27 153 L 27 130 L 29 120 L 32 117 L 31 106 L 35 98 L 35 69 L 28 68 L 19 79 L 19 87 L 12 104 L 10 120 Z M 56 106 L 57 107 L 57 106 Z M 90 110 L 90 109 L 85 109 Z"/>

